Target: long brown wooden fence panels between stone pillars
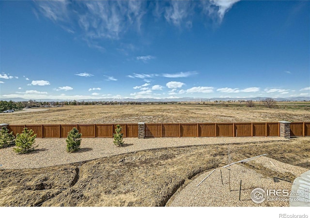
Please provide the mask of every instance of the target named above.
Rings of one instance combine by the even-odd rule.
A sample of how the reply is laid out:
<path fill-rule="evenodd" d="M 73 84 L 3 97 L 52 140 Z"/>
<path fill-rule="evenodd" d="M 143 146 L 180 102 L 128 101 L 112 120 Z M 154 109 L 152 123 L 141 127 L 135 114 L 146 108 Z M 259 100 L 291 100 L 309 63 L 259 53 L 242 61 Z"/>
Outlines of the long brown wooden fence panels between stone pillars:
<path fill-rule="evenodd" d="M 76 127 L 84 138 L 111 138 L 117 124 L 75 125 L 9 125 L 8 129 L 21 133 L 24 127 L 32 129 L 38 138 L 65 138 Z M 124 137 L 138 138 L 138 124 L 120 124 Z M 291 136 L 310 136 L 310 122 L 290 124 Z M 144 124 L 144 137 L 269 137 L 280 136 L 279 123 L 196 123 Z"/>

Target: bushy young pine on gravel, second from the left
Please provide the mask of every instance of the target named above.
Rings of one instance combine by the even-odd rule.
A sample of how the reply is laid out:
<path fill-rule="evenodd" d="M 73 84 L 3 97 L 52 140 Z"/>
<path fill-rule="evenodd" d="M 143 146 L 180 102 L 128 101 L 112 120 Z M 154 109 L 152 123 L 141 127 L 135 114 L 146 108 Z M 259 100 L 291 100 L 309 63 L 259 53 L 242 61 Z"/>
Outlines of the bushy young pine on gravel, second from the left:
<path fill-rule="evenodd" d="M 18 154 L 24 154 L 33 151 L 38 146 L 33 146 L 37 134 L 33 134 L 33 130 L 24 128 L 21 134 L 16 134 L 15 145 L 13 150 Z"/>

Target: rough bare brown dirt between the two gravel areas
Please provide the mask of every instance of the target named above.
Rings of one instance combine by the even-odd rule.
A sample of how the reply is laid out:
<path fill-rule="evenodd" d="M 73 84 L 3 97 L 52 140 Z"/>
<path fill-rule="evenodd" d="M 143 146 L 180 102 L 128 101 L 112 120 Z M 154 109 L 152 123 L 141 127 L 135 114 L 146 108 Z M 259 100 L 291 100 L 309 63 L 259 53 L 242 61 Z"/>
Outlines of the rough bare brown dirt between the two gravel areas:
<path fill-rule="evenodd" d="M 192 178 L 226 165 L 228 149 L 232 161 L 269 153 L 310 169 L 310 148 L 302 140 L 163 148 L 41 169 L 2 169 L 0 206 L 164 206 Z M 265 176 L 296 177 L 248 167 Z"/>

